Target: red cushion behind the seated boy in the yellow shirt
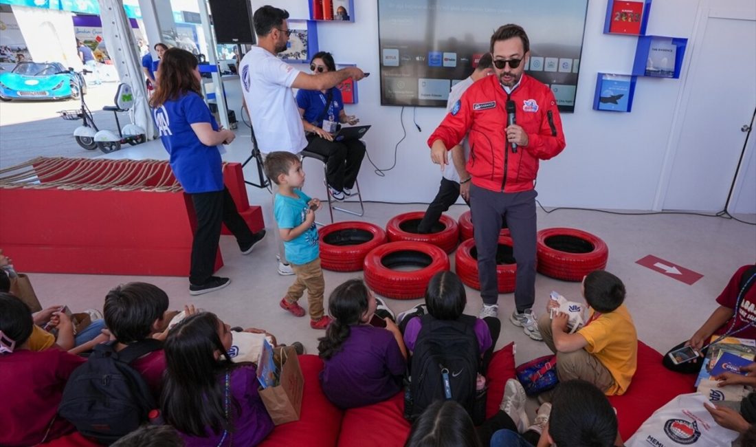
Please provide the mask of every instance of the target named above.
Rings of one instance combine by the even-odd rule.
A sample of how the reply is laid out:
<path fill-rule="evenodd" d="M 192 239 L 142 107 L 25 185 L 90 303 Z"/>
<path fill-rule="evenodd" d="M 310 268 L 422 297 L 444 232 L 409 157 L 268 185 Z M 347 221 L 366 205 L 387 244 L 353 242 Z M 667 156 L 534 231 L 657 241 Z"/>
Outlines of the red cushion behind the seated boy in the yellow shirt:
<path fill-rule="evenodd" d="M 609 396 L 617 409 L 619 432 L 627 440 L 651 414 L 675 396 L 695 391 L 695 374 L 669 371 L 662 365 L 662 354 L 638 341 L 638 369 L 622 396 Z"/>

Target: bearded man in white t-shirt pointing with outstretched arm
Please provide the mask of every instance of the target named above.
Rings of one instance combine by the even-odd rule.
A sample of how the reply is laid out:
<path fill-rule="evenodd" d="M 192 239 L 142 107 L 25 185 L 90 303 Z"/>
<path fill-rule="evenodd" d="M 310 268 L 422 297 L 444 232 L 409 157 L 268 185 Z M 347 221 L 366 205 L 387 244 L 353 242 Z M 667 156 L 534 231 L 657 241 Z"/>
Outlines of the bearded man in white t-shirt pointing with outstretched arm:
<path fill-rule="evenodd" d="M 291 33 L 287 18 L 287 11 L 270 5 L 255 11 L 253 21 L 257 45 L 244 55 L 239 66 L 244 103 L 262 154 L 274 151 L 299 154 L 307 146 L 305 128 L 294 99 L 293 88 L 325 90 L 345 79 L 353 78 L 358 81 L 365 77 L 357 67 L 309 74 L 281 61 L 276 54 L 286 50 Z M 275 197 L 276 186 L 274 183 L 273 185 Z M 277 228 L 274 234 L 278 236 Z M 294 272 L 283 254 L 283 242 L 280 241 L 280 237 L 277 237 L 277 241 L 280 257 L 278 273 L 293 275 Z"/>

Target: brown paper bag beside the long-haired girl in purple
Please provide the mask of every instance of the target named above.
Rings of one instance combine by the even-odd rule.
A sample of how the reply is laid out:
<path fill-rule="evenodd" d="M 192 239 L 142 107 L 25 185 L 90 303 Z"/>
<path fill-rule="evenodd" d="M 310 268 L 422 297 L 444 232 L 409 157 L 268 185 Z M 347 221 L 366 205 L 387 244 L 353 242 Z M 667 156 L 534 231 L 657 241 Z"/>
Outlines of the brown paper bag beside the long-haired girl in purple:
<path fill-rule="evenodd" d="M 296 349 L 293 346 L 281 349 L 279 383 L 260 390 L 260 398 L 273 424 L 299 421 L 304 385 L 305 378 L 302 376 L 302 368 L 299 367 Z"/>

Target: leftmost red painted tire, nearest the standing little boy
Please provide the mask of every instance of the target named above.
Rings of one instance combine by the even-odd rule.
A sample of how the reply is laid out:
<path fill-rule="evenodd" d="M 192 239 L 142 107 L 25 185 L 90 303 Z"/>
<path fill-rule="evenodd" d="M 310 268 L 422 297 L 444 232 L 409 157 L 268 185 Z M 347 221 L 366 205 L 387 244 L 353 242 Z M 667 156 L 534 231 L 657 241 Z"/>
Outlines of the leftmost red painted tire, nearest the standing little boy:
<path fill-rule="evenodd" d="M 336 222 L 318 230 L 321 265 L 334 272 L 362 270 L 370 250 L 386 244 L 386 231 L 367 222 Z"/>

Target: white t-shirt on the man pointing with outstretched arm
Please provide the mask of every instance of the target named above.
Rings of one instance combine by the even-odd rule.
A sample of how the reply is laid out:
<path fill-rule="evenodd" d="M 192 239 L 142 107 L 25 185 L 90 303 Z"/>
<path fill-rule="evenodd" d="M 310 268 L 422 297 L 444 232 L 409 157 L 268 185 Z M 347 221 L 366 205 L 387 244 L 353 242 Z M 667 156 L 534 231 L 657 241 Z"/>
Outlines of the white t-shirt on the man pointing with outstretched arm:
<path fill-rule="evenodd" d="M 299 70 L 253 46 L 239 67 L 241 88 L 260 151 L 299 154 L 307 146 L 291 85 Z"/>

